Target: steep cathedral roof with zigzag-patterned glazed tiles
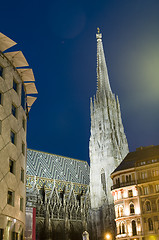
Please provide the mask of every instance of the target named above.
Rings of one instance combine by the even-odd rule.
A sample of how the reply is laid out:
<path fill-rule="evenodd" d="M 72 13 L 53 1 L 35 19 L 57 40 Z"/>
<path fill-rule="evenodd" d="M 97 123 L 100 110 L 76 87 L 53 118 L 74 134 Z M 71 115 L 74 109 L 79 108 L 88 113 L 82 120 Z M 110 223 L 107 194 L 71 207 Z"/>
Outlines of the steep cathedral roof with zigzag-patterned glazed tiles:
<path fill-rule="evenodd" d="M 89 165 L 86 161 L 27 150 L 26 174 L 80 184 L 89 184 Z"/>

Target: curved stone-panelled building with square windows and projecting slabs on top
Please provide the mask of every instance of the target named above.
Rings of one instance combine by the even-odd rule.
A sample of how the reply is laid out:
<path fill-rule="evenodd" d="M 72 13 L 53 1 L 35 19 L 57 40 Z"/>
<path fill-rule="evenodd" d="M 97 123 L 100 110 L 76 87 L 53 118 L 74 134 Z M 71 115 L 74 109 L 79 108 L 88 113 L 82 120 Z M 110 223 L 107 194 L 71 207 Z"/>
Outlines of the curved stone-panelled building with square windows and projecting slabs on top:
<path fill-rule="evenodd" d="M 23 239 L 25 225 L 26 123 L 37 93 L 22 52 L 0 33 L 0 239 Z M 18 69 L 17 69 L 18 67 Z M 26 102 L 27 100 L 27 102 Z"/>

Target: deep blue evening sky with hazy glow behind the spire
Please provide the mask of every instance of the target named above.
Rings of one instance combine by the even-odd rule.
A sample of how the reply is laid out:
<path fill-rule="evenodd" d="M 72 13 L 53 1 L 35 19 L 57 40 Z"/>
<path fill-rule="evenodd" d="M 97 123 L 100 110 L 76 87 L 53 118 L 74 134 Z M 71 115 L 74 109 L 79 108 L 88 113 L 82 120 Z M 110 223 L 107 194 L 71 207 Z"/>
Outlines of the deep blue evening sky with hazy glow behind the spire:
<path fill-rule="evenodd" d="M 39 92 L 29 148 L 89 159 L 97 27 L 130 151 L 159 144 L 158 0 L 1 1 L 0 22 L 33 69 Z"/>

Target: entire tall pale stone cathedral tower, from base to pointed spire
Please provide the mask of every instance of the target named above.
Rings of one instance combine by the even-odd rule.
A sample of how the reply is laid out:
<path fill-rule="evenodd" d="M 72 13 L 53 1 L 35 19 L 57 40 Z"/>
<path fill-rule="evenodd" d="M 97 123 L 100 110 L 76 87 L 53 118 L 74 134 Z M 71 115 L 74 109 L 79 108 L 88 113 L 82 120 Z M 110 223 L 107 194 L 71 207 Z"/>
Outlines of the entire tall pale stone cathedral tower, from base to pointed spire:
<path fill-rule="evenodd" d="M 97 38 L 97 92 L 91 99 L 90 200 L 93 239 L 114 234 L 114 208 L 110 174 L 128 153 L 118 97 L 112 93 L 102 45 Z"/>

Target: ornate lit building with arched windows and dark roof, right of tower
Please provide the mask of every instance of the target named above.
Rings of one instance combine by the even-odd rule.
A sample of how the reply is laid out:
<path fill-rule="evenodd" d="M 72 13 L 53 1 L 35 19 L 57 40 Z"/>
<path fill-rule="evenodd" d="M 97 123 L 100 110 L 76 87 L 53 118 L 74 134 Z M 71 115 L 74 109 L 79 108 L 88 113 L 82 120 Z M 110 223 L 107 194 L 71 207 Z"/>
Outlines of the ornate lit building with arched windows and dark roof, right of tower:
<path fill-rule="evenodd" d="M 111 174 L 116 239 L 159 239 L 159 145 L 129 153 Z"/>

